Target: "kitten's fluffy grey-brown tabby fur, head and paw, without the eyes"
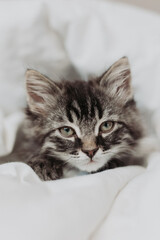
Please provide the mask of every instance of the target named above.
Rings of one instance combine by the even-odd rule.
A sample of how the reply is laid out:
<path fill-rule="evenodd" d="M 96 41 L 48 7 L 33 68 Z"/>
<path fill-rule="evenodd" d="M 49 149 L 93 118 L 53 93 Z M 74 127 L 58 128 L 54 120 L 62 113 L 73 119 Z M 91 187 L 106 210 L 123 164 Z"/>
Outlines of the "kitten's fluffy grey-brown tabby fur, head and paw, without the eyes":
<path fill-rule="evenodd" d="M 139 144 L 144 137 L 131 88 L 126 57 L 102 76 L 89 81 L 54 82 L 35 70 L 26 72 L 28 107 L 16 142 L 20 161 L 43 180 L 65 177 L 75 170 L 94 173 L 142 164 Z M 109 132 L 101 131 L 106 121 Z M 74 134 L 64 137 L 60 129 Z M 65 129 L 66 130 L 66 129 Z"/>

